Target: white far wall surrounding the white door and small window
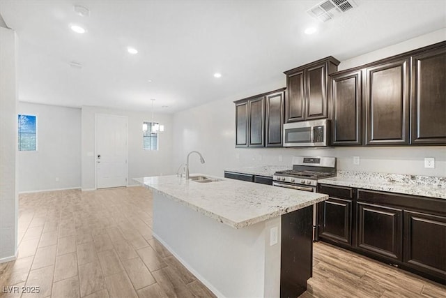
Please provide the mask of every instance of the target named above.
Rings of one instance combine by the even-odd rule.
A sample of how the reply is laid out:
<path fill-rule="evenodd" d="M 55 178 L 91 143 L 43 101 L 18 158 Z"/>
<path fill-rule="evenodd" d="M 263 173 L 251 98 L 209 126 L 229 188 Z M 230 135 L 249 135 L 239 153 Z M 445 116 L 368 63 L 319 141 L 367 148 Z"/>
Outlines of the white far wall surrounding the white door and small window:
<path fill-rule="evenodd" d="M 151 121 L 150 112 L 112 110 L 105 107 L 82 107 L 82 190 L 95 189 L 95 114 L 112 114 L 128 117 L 128 185 L 136 185 L 132 178 L 173 174 L 172 115 L 155 114 L 155 121 L 164 125 L 160 133 L 159 150 L 144 151 L 142 123 Z"/>

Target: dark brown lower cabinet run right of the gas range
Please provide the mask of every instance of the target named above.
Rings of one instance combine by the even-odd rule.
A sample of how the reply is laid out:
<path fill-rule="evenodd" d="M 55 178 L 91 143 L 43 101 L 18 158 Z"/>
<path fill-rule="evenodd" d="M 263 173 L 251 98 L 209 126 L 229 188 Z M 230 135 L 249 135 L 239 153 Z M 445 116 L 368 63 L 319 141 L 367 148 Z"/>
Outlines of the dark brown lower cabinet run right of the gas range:
<path fill-rule="evenodd" d="M 318 238 L 446 285 L 446 200 L 321 184 Z"/>

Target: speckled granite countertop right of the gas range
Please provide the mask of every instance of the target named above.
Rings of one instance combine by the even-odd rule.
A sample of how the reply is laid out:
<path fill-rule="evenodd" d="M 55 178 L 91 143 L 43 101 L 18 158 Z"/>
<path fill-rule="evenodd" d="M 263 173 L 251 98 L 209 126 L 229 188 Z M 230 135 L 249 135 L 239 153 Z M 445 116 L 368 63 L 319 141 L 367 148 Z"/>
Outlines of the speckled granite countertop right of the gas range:
<path fill-rule="evenodd" d="M 337 176 L 318 183 L 446 199 L 446 177 L 337 171 Z"/>

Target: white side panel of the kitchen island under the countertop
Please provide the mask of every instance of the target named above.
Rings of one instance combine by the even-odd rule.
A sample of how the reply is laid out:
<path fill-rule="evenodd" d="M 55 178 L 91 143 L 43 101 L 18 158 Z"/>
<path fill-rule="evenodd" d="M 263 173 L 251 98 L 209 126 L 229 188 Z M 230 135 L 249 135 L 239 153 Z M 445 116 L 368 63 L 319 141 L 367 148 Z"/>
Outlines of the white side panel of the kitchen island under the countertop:
<path fill-rule="evenodd" d="M 279 281 L 265 273 L 280 253 L 266 252 L 265 222 L 232 228 L 154 191 L 153 235 L 218 297 L 265 297 L 266 275 Z"/>

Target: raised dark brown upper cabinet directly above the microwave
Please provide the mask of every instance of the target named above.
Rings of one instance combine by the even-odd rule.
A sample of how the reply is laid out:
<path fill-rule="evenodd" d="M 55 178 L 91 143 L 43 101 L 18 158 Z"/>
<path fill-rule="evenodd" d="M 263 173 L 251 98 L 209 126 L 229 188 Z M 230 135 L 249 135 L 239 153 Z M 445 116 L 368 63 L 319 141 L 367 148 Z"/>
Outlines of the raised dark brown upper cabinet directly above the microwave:
<path fill-rule="evenodd" d="M 338 65 L 330 56 L 284 72 L 286 122 L 328 117 L 328 75 L 336 72 Z"/>

